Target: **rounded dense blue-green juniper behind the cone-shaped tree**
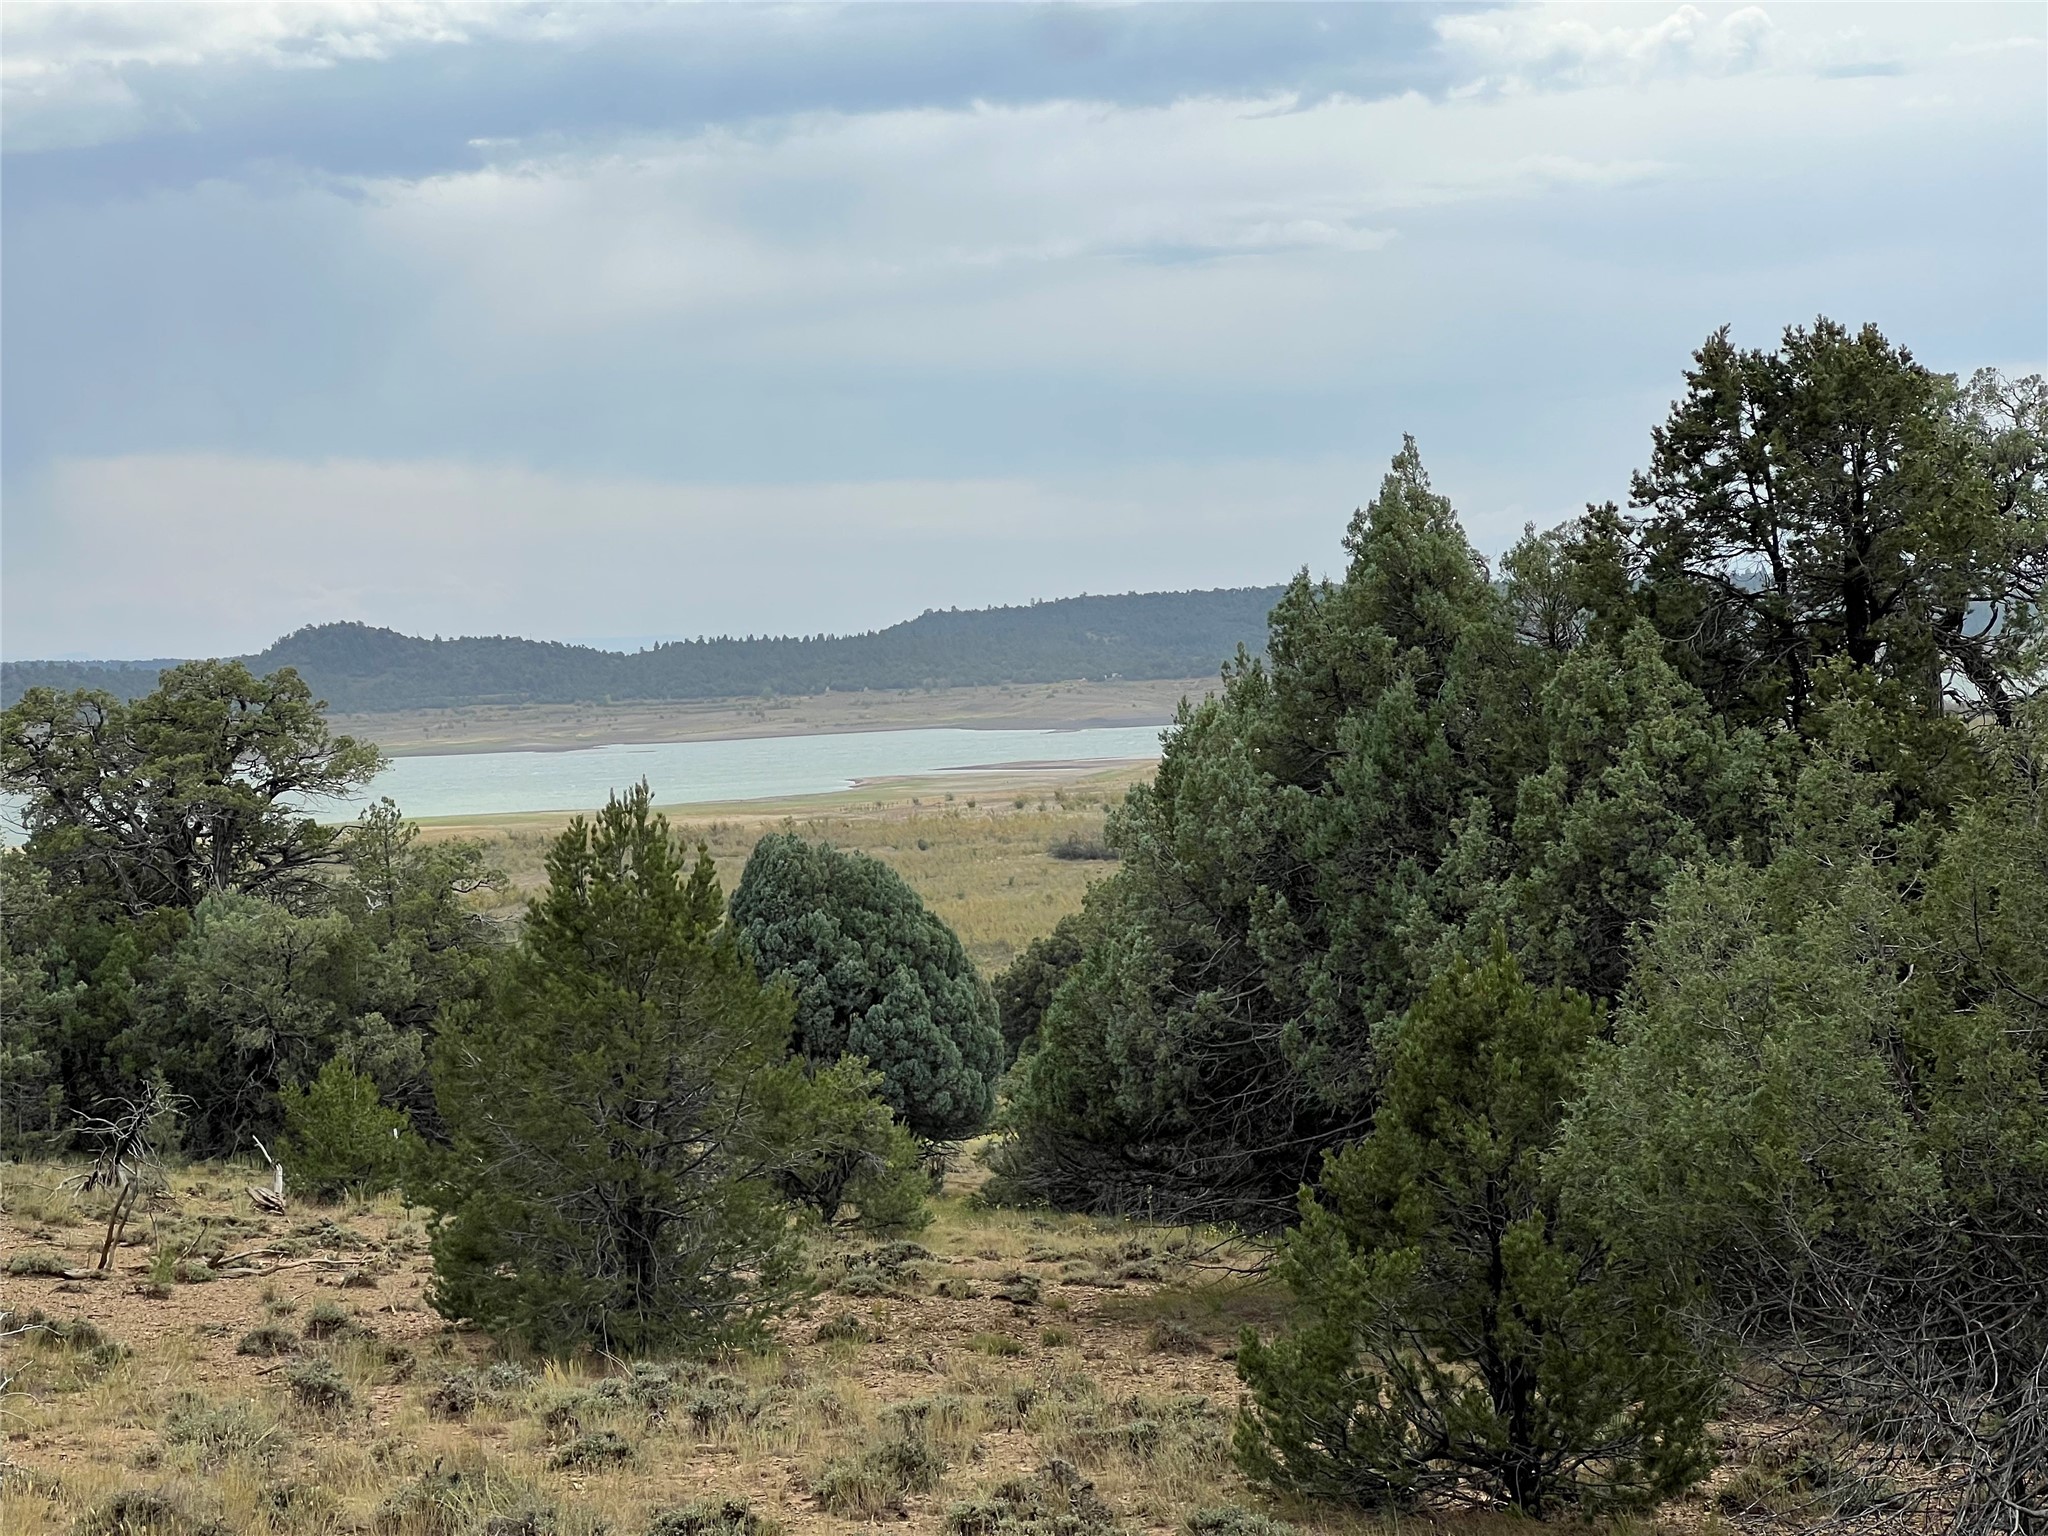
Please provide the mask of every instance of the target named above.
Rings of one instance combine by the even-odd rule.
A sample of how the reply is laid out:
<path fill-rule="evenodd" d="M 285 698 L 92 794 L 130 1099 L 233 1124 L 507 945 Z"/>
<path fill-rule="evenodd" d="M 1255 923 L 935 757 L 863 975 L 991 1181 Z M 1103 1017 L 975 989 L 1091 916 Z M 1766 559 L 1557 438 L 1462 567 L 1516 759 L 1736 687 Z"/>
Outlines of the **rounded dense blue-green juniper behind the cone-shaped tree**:
<path fill-rule="evenodd" d="M 762 838 L 733 891 L 733 928 L 762 977 L 797 999 L 797 1051 L 860 1057 L 918 1137 L 981 1128 L 1004 1042 L 995 1001 L 954 932 L 866 854 Z"/>

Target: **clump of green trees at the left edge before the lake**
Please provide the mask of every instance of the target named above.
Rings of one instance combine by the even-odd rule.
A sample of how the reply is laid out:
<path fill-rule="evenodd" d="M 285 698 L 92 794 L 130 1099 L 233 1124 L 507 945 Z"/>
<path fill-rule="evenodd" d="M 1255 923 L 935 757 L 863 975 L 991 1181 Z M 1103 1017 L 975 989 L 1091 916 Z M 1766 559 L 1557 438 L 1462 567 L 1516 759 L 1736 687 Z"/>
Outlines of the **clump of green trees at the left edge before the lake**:
<path fill-rule="evenodd" d="M 129 702 L 31 690 L 0 717 L 27 829 L 0 854 L 10 1149 L 61 1149 L 78 1112 L 160 1077 L 184 1151 L 231 1153 L 334 1059 L 432 1122 L 434 1020 L 500 942 L 465 897 L 498 877 L 389 803 L 315 819 L 377 766 L 295 674 L 231 662 Z"/>

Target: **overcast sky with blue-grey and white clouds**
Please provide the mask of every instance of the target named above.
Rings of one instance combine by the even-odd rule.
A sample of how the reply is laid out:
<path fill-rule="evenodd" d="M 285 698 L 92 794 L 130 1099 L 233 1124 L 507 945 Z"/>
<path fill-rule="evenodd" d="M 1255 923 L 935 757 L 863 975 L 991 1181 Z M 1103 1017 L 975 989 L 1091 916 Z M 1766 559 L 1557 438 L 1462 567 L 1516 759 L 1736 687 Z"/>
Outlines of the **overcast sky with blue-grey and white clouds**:
<path fill-rule="evenodd" d="M 8 4 L 0 649 L 1497 553 L 1716 326 L 2040 371 L 2044 14 Z"/>

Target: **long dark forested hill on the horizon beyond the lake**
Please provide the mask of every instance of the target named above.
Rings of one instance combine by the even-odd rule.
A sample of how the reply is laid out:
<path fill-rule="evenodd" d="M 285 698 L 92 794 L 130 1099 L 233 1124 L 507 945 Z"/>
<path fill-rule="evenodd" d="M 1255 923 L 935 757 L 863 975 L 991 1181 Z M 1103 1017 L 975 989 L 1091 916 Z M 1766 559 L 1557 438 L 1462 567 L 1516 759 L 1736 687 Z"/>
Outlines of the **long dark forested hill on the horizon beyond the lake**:
<path fill-rule="evenodd" d="M 938 688 L 1069 678 L 1194 678 L 1239 645 L 1266 645 L 1280 588 L 1130 592 L 1026 608 L 930 610 L 866 635 L 698 639 L 598 651 L 508 635 L 418 639 L 369 625 L 311 625 L 242 657 L 297 668 L 340 713 L 453 705 L 573 705 Z M 0 662 L 0 702 L 27 688 L 135 698 L 170 662 Z"/>

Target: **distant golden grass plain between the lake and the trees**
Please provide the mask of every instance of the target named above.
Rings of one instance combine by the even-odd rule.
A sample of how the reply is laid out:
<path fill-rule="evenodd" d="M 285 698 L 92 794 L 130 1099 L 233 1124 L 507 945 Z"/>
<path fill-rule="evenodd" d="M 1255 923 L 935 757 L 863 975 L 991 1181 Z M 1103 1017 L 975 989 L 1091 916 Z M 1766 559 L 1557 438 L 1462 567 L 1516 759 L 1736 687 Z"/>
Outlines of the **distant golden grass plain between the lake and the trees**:
<path fill-rule="evenodd" d="M 670 819 L 688 842 L 702 842 L 727 891 L 748 854 L 768 831 L 858 848 L 891 864 L 985 971 L 999 971 L 1032 938 L 1079 909 L 1090 881 L 1116 868 L 1104 860 L 1063 860 L 1047 850 L 1069 836 L 1100 838 L 1102 817 L 1122 791 L 1151 768 L 1087 774 L 1040 772 L 952 782 L 879 784 L 809 801 L 674 807 Z M 426 838 L 477 838 L 512 879 L 500 911 L 545 883 L 547 846 L 567 813 L 430 821 Z"/>

